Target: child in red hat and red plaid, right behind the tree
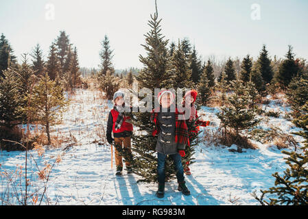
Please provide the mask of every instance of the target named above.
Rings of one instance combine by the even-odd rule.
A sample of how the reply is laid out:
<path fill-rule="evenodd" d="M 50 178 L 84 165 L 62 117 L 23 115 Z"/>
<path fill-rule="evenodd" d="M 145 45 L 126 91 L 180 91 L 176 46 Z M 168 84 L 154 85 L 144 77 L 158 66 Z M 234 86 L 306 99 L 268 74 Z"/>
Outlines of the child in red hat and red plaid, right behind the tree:
<path fill-rule="evenodd" d="M 202 121 L 198 118 L 199 116 L 195 105 L 197 95 L 198 92 L 196 90 L 189 90 L 186 92 L 182 101 L 182 107 L 185 107 L 185 115 L 187 115 L 186 124 L 188 127 L 189 142 L 192 142 L 193 138 L 196 138 L 196 135 L 198 135 L 199 126 L 206 127 L 210 124 L 210 121 Z M 187 150 L 188 149 L 189 148 L 187 148 Z M 186 175 L 191 175 L 189 163 L 190 162 L 187 161 L 184 165 L 184 172 Z"/>

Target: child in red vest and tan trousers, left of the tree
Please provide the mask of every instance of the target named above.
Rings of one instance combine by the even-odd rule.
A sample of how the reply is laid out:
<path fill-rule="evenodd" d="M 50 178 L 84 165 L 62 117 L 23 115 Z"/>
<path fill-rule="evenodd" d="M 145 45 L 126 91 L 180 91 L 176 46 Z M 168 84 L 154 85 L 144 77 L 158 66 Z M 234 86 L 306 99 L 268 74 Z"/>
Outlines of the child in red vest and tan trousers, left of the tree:
<path fill-rule="evenodd" d="M 128 123 L 130 116 L 127 115 L 127 107 L 124 102 L 124 93 L 121 91 L 115 92 L 113 94 L 113 109 L 110 110 L 107 121 L 106 138 L 109 144 L 112 146 L 112 141 L 115 141 L 115 164 L 117 166 L 116 175 L 122 175 L 123 162 L 122 156 L 119 155 L 119 151 L 126 149 L 128 153 L 131 151 L 131 136 L 132 136 L 132 124 Z M 131 107 L 130 107 L 131 108 Z M 111 132 L 113 132 L 113 137 L 111 137 Z M 132 173 L 132 168 L 130 162 L 126 159 L 126 170 L 128 173 Z"/>

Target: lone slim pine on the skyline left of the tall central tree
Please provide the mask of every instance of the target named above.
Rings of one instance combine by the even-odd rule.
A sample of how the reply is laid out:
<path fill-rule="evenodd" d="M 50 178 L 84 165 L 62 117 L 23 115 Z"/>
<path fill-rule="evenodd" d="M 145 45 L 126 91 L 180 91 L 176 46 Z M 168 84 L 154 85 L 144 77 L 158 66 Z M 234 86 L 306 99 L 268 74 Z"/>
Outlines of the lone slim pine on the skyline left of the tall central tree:
<path fill-rule="evenodd" d="M 106 75 L 107 71 L 110 72 L 110 75 L 115 73 L 115 69 L 112 66 L 113 50 L 110 50 L 109 43 L 108 36 L 105 35 L 104 40 L 102 41 L 102 50 L 99 52 L 99 57 L 102 60 L 99 76 Z"/>

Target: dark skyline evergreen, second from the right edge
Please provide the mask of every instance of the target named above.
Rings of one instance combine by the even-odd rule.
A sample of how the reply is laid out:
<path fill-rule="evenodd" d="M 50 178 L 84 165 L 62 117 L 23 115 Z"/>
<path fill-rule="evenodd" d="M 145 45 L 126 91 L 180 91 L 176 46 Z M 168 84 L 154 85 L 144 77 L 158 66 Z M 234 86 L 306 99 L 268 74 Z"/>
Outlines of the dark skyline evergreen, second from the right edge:
<path fill-rule="evenodd" d="M 272 70 L 271 60 L 268 57 L 268 51 L 266 50 L 265 45 L 263 45 L 263 48 L 257 60 L 256 70 L 258 72 L 258 75 L 259 73 L 261 74 L 261 77 L 263 78 L 265 84 L 272 81 L 274 72 Z"/>

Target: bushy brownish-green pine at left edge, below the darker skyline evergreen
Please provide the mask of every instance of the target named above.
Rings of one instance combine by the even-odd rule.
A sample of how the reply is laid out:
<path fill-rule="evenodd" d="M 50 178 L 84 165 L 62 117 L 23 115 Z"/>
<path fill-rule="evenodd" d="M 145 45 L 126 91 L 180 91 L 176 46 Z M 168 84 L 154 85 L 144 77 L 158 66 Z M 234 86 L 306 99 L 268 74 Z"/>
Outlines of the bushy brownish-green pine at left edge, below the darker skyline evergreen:
<path fill-rule="evenodd" d="M 14 127 L 17 120 L 21 123 L 21 94 L 19 93 L 19 82 L 16 74 L 10 70 L 3 70 L 0 77 L 0 121 L 1 126 Z"/>

